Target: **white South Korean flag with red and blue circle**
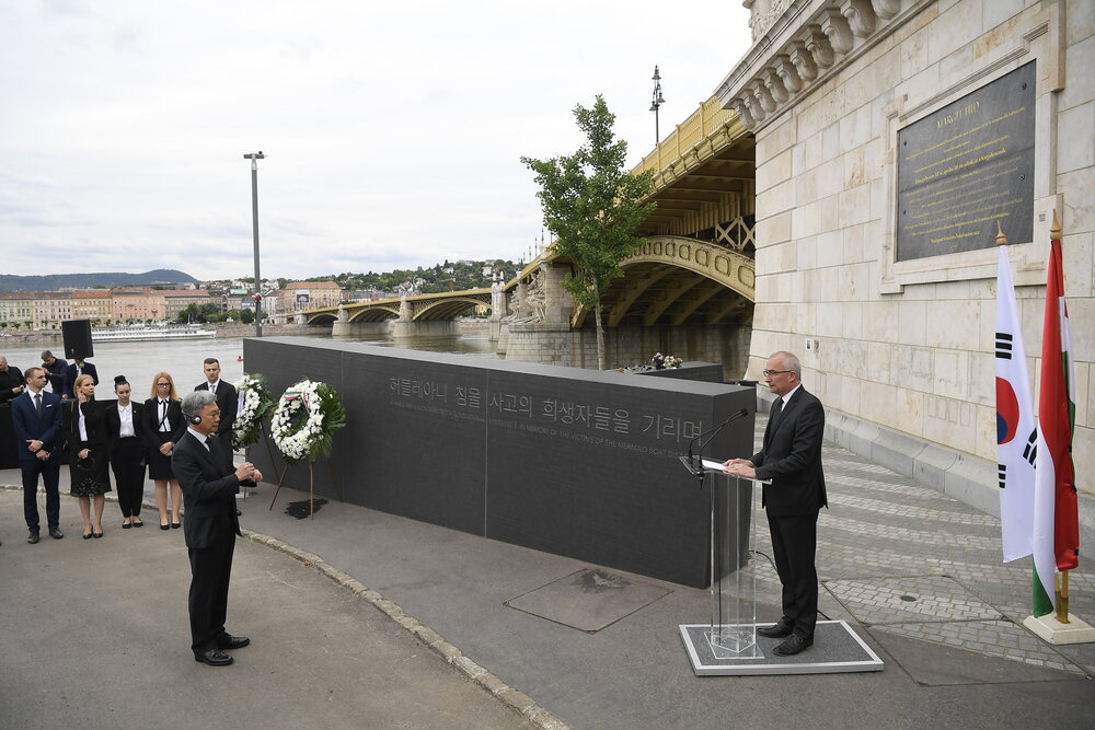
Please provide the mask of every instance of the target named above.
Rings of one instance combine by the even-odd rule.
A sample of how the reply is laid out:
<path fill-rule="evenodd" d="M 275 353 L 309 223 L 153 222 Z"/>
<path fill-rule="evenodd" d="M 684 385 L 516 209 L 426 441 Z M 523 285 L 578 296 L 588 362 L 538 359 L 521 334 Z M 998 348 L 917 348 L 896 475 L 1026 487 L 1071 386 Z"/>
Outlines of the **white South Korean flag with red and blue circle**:
<path fill-rule="evenodd" d="M 996 472 L 1004 563 L 1008 563 L 1031 552 L 1038 433 L 1007 246 L 996 248 Z"/>

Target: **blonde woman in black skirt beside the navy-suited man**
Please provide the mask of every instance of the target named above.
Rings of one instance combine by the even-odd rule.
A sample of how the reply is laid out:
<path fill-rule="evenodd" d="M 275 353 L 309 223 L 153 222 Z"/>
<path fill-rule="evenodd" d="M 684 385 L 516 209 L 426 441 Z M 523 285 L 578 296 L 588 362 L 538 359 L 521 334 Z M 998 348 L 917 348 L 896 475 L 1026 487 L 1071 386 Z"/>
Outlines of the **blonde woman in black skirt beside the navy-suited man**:
<path fill-rule="evenodd" d="M 80 375 L 72 385 L 76 405 L 69 410 L 68 450 L 71 493 L 80 500 L 83 538 L 103 536 L 103 505 L 111 490 L 110 440 L 103 409 L 95 403 L 95 381 Z M 94 501 L 94 524 L 92 523 Z"/>

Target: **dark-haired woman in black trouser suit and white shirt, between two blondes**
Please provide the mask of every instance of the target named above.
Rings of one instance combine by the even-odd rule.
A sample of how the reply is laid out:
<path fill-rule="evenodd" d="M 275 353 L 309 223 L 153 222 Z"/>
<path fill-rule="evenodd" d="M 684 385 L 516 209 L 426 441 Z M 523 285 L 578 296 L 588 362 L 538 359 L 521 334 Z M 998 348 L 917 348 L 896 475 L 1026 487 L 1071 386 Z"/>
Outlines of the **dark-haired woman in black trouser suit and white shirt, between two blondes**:
<path fill-rule="evenodd" d="M 111 440 L 111 470 L 118 487 L 123 530 L 140 528 L 140 505 L 145 497 L 145 438 L 141 414 L 145 408 L 130 399 L 132 387 L 125 375 L 114 379 L 118 404 L 104 412 L 106 434 Z"/>

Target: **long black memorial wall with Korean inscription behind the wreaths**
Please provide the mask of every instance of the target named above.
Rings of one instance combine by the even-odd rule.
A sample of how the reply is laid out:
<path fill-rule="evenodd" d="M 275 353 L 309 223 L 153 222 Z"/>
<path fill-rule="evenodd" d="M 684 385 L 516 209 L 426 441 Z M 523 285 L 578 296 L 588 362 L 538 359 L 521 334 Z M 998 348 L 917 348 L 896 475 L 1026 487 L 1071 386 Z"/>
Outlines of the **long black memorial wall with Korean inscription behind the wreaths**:
<path fill-rule="evenodd" d="M 752 387 L 292 337 L 246 339 L 244 360 L 275 396 L 338 391 L 318 494 L 687 586 L 708 583 L 710 517 L 678 456 L 742 408 L 704 455 L 752 453 Z M 307 490 L 307 466 L 285 484 Z"/>

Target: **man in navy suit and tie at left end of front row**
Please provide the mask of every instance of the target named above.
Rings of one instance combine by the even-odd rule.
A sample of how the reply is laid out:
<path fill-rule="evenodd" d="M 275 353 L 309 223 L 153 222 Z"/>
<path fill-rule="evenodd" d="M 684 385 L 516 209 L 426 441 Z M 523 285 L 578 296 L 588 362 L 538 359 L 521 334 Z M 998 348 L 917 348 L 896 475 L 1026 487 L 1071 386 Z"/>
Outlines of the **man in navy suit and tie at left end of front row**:
<path fill-rule="evenodd" d="M 11 425 L 15 430 L 19 466 L 23 473 L 23 517 L 30 534 L 26 542 L 38 542 L 38 476 L 46 487 L 46 521 L 49 536 L 60 540 L 61 497 L 57 489 L 61 460 L 61 399 L 54 393 L 44 393 L 46 371 L 27 368 L 26 392 L 11 402 Z"/>

